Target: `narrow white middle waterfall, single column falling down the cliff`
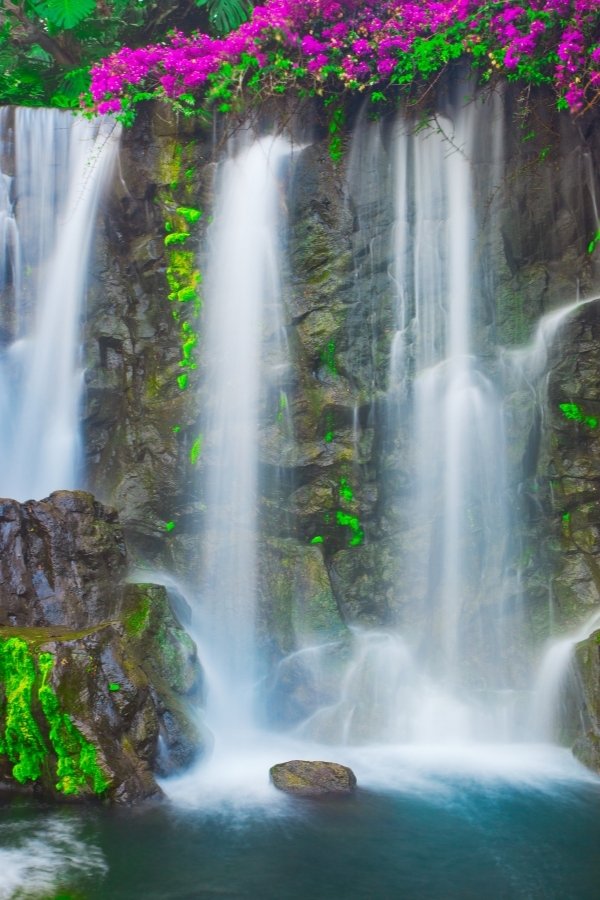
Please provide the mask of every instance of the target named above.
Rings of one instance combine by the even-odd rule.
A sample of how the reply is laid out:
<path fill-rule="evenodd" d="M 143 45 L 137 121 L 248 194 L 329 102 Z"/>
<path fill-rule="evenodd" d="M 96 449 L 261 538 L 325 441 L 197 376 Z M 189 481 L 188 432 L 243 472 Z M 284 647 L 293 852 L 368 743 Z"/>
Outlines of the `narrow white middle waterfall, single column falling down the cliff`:
<path fill-rule="evenodd" d="M 259 409 L 277 388 L 283 137 L 235 143 L 216 188 L 206 278 L 206 505 L 197 632 L 209 680 L 207 721 L 217 735 L 253 722 L 257 602 Z M 275 356 L 275 358 L 274 358 Z"/>

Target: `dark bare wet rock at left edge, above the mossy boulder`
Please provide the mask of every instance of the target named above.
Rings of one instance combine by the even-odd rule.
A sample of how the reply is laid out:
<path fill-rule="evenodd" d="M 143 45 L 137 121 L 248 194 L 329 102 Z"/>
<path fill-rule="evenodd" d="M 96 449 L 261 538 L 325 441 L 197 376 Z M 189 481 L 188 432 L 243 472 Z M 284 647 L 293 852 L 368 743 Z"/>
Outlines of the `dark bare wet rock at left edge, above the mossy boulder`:
<path fill-rule="evenodd" d="M 120 610 L 117 513 L 83 491 L 0 500 L 0 625 L 85 628 Z"/>

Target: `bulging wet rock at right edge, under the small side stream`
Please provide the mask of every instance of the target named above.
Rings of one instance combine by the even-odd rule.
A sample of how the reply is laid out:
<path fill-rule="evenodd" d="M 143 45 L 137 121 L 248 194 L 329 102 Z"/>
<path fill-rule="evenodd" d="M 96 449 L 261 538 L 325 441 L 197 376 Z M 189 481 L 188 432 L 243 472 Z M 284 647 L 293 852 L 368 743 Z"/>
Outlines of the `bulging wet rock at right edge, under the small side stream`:
<path fill-rule="evenodd" d="M 569 314 L 547 355 L 544 425 L 533 419 L 524 459 L 523 572 L 532 614 L 547 619 L 551 579 L 555 621 L 569 629 L 600 599 L 599 301 Z"/>

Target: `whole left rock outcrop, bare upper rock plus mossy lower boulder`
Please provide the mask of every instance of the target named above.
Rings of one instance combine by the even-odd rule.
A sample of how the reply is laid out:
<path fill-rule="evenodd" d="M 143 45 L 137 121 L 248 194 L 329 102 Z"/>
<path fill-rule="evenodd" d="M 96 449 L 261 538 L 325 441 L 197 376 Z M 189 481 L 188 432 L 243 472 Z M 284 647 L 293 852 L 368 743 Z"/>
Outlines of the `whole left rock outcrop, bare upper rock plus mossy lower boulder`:
<path fill-rule="evenodd" d="M 114 510 L 90 494 L 1 501 L 0 786 L 132 803 L 207 736 L 196 648 L 165 588 L 124 582 Z"/>

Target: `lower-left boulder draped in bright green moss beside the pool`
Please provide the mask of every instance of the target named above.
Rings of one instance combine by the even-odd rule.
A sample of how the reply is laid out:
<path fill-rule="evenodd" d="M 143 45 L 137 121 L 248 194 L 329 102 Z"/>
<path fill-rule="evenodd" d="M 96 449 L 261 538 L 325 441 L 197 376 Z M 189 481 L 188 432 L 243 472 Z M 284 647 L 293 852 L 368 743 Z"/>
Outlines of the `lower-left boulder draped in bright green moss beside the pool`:
<path fill-rule="evenodd" d="M 162 586 L 127 585 L 124 596 L 119 618 L 87 629 L 0 629 L 6 788 L 133 803 L 161 793 L 155 774 L 179 771 L 202 753 L 195 646 Z M 17 662 L 28 673 L 24 701 Z"/>

